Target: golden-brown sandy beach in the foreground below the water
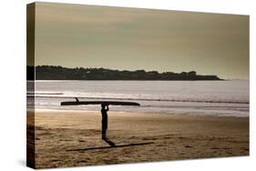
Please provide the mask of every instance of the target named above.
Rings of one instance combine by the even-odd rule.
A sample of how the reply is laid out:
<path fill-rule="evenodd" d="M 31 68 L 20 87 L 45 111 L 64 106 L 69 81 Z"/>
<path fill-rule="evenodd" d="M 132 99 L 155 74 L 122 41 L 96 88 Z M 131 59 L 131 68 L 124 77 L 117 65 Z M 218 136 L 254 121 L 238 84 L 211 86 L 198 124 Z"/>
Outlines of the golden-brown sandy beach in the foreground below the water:
<path fill-rule="evenodd" d="M 35 119 L 36 168 L 249 156 L 248 117 L 109 111 L 108 142 L 100 112 L 36 111 Z"/>

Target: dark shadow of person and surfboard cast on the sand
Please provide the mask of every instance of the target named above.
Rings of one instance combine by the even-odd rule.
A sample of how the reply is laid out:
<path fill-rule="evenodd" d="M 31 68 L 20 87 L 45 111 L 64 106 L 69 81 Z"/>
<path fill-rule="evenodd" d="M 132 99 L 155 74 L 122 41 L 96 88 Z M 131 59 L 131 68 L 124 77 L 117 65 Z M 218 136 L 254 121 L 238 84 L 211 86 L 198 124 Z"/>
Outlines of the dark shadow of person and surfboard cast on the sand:
<path fill-rule="evenodd" d="M 87 150 L 96 150 L 96 149 L 107 149 L 107 148 L 118 148 L 118 147 L 126 147 L 126 146 L 144 146 L 144 145 L 150 145 L 153 144 L 153 142 L 147 142 L 147 143 L 132 143 L 128 145 L 115 145 L 114 142 L 110 141 L 108 138 L 103 139 L 108 143 L 109 146 L 98 146 L 98 147 L 91 147 L 91 148 L 80 148 L 80 149 L 70 149 L 66 151 L 87 151 Z"/>

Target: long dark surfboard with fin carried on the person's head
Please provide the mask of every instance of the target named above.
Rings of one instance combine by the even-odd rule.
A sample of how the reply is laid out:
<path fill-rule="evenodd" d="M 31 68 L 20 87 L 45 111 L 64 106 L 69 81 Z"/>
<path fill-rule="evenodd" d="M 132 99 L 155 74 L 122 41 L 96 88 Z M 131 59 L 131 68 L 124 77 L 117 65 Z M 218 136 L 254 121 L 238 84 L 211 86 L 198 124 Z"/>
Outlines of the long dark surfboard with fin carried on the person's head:
<path fill-rule="evenodd" d="M 84 106 L 84 105 L 106 105 L 106 106 L 140 106 L 135 102 L 123 102 L 123 101 L 67 101 L 61 102 L 61 106 Z"/>

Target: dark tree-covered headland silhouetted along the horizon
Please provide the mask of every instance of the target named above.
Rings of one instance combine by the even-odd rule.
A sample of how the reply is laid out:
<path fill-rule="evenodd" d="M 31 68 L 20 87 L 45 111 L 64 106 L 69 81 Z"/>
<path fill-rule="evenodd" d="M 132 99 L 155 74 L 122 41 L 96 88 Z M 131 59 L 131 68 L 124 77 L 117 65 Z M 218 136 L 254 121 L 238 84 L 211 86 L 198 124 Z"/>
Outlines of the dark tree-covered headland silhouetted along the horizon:
<path fill-rule="evenodd" d="M 67 68 L 54 65 L 26 66 L 27 80 L 221 80 L 217 75 L 197 75 L 190 72 L 163 72 L 145 70 L 113 70 L 106 68 Z"/>

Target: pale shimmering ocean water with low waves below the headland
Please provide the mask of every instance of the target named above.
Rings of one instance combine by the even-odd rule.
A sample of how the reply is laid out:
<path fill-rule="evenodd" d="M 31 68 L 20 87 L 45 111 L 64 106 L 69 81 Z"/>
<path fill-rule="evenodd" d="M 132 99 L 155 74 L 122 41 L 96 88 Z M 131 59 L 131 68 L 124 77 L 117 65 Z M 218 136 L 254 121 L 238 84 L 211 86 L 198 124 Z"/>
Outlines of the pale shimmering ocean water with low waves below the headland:
<path fill-rule="evenodd" d="M 31 89 L 28 81 L 28 89 Z M 248 80 L 228 81 L 36 81 L 27 106 L 36 109 L 98 111 L 100 106 L 60 106 L 63 101 L 111 100 L 140 106 L 109 106 L 110 111 L 195 116 L 249 116 Z M 109 112 L 110 112 L 109 111 Z"/>

